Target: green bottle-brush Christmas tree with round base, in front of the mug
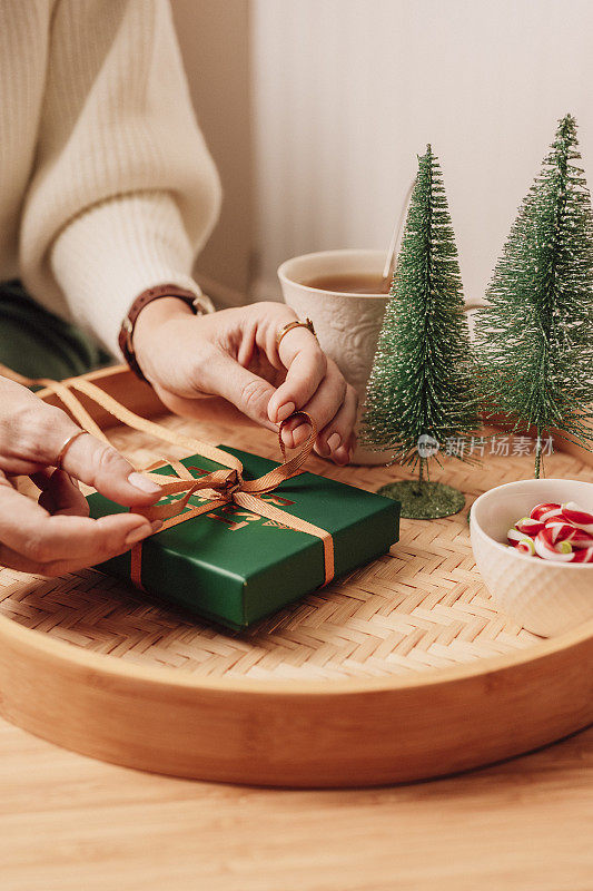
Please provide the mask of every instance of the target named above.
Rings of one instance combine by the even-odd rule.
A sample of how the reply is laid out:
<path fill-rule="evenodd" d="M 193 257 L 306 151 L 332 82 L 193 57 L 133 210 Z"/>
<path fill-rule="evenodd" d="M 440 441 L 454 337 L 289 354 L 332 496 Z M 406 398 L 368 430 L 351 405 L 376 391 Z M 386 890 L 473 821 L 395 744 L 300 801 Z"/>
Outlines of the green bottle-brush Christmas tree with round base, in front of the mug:
<path fill-rule="evenodd" d="M 362 424 L 367 447 L 391 449 L 401 463 L 418 467 L 417 481 L 379 490 L 402 502 L 404 517 L 445 517 L 464 505 L 456 489 L 427 480 L 427 470 L 438 449 L 480 427 L 474 371 L 441 168 L 427 146 L 418 158 Z"/>

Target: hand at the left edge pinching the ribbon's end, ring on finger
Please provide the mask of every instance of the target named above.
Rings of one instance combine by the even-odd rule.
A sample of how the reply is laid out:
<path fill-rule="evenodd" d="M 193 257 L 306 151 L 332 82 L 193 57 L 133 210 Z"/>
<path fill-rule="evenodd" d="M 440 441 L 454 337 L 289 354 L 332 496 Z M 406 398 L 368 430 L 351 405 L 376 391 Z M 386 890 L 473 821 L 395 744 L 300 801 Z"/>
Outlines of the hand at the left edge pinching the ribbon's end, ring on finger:
<path fill-rule="evenodd" d="M 63 443 L 79 429 L 66 412 L 0 378 L 0 565 L 59 576 L 122 554 L 160 526 L 138 513 L 89 518 L 77 479 L 130 508 L 154 503 L 160 489 L 89 433 L 72 441 L 57 469 Z M 17 491 L 10 480 L 17 474 L 41 490 L 37 503 Z"/>

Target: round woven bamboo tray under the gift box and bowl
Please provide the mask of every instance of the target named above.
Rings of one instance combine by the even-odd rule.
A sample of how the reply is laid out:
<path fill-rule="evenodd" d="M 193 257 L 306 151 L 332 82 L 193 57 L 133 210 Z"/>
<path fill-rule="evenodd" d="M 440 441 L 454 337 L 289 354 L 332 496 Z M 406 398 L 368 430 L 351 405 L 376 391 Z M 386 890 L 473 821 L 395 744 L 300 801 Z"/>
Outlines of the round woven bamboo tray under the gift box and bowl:
<path fill-rule="evenodd" d="M 122 370 L 89 378 L 146 417 L 277 457 L 274 435 L 239 425 L 220 400 L 181 420 Z M 138 466 L 162 454 L 144 434 L 109 435 Z M 547 472 L 593 481 L 585 457 L 555 454 Z M 442 476 L 467 496 L 462 513 L 403 520 L 389 555 L 243 635 L 92 570 L 47 579 L 2 569 L 0 711 L 118 764 L 280 786 L 436 776 L 577 731 L 593 722 L 593 623 L 553 640 L 522 629 L 494 608 L 470 546 L 472 500 L 532 468 L 521 456 L 486 456 L 474 469 L 447 461 Z M 405 476 L 317 458 L 308 469 L 370 490 Z"/>

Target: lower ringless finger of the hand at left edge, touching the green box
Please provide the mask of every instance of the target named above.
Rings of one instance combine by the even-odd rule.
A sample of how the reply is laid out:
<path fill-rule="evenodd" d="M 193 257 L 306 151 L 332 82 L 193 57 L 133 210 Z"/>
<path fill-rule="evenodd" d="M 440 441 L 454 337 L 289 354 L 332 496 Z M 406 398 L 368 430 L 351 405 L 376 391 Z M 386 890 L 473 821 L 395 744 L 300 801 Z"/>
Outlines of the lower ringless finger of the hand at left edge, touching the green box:
<path fill-rule="evenodd" d="M 160 525 L 135 513 L 91 520 L 50 516 L 34 501 L 0 484 L 0 564 L 26 572 L 61 575 L 122 554 Z"/>

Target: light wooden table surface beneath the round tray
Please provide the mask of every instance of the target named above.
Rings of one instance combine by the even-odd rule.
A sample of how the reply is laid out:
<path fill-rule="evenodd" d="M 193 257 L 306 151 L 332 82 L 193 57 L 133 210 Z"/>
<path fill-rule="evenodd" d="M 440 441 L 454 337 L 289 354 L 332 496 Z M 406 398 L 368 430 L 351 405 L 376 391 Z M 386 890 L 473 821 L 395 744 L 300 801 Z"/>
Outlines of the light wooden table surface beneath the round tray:
<path fill-rule="evenodd" d="M 0 793 L 2 891 L 593 889 L 593 728 L 447 780 L 291 792 L 116 767 L 0 721 Z"/>

